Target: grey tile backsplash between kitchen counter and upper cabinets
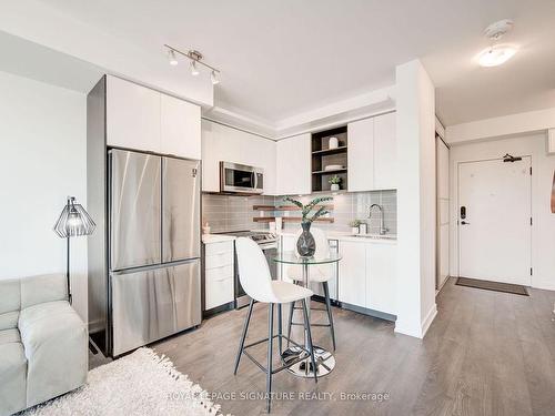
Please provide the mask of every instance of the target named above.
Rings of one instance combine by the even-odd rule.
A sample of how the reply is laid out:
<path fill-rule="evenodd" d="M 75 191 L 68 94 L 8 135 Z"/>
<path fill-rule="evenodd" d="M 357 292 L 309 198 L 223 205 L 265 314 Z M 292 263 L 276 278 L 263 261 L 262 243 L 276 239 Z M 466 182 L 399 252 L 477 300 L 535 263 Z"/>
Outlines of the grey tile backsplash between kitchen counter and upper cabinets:
<path fill-rule="evenodd" d="M 317 194 L 324 196 L 326 194 Z M 303 203 L 311 201 L 316 195 L 304 195 L 299 197 Z M 327 196 L 327 195 L 326 195 Z M 369 207 L 372 204 L 380 204 L 384 209 L 384 224 L 390 234 L 397 233 L 397 192 L 371 191 L 340 193 L 333 196 L 329 204 L 333 205 L 330 214 L 334 219 L 333 223 L 317 223 L 317 226 L 327 231 L 351 231 L 349 223 L 353 220 L 363 220 L 369 224 L 370 233 L 380 231 L 380 213 L 373 211 L 369 220 Z M 209 222 L 213 233 L 239 230 L 265 230 L 268 223 L 254 222 L 253 217 L 260 216 L 260 211 L 254 211 L 253 205 L 284 205 L 282 196 L 235 196 L 235 195 L 202 195 L 202 219 L 203 223 Z M 299 212 L 285 211 L 275 212 L 281 216 L 299 216 Z M 264 212 L 263 215 L 272 216 L 272 212 Z M 286 230 L 299 227 L 297 223 L 284 223 Z"/>

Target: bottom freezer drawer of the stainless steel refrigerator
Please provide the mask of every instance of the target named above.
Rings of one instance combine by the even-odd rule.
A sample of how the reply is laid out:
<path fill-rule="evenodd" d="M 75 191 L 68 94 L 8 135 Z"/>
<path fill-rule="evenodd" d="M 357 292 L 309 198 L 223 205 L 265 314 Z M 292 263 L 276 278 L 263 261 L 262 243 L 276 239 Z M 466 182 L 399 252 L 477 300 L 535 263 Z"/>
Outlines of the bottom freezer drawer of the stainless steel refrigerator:
<path fill-rule="evenodd" d="M 110 277 L 112 355 L 201 323 L 200 260 Z"/>

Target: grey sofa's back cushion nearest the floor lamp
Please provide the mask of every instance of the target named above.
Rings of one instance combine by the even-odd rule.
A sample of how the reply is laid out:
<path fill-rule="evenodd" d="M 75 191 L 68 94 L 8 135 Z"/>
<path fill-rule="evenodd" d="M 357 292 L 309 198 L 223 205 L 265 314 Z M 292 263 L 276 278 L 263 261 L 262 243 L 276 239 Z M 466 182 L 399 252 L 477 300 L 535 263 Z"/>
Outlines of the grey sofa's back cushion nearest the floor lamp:
<path fill-rule="evenodd" d="M 20 283 L 22 310 L 44 302 L 68 300 L 68 283 L 63 274 L 23 277 Z"/>

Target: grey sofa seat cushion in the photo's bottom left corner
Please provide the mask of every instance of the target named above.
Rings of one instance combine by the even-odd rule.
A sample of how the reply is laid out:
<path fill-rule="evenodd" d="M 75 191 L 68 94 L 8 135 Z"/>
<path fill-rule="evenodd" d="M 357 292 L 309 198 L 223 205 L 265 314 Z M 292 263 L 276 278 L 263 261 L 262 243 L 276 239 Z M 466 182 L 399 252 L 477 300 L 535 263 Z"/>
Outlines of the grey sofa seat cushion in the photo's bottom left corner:
<path fill-rule="evenodd" d="M 4 339 L 14 337 L 13 331 L 1 332 Z M 19 337 L 19 334 L 18 334 Z M 19 342 L 0 343 L 0 416 L 11 415 L 27 407 L 27 359 Z"/>

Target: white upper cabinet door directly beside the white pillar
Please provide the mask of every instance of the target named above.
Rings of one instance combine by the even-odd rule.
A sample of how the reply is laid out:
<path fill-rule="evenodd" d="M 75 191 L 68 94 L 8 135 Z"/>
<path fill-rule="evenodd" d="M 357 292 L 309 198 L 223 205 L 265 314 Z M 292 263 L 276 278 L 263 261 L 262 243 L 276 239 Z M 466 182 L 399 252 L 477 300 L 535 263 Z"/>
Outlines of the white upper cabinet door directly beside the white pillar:
<path fill-rule="evenodd" d="M 374 118 L 374 190 L 397 187 L 397 135 L 395 113 Z"/>

